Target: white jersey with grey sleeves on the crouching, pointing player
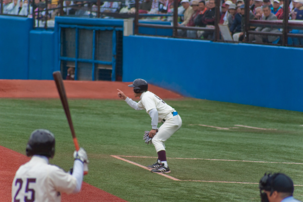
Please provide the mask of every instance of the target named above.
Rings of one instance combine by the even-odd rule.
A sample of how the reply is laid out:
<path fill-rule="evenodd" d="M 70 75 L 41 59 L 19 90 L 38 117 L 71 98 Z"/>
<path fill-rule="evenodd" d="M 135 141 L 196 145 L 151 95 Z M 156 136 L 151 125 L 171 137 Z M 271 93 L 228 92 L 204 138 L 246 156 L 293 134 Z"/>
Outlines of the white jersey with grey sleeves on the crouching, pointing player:
<path fill-rule="evenodd" d="M 133 107 L 136 110 L 145 109 L 148 113 L 151 109 L 157 109 L 158 111 L 158 123 L 164 119 L 167 114 L 175 111 L 174 108 L 166 104 L 163 100 L 161 100 L 157 95 L 153 94 L 150 91 L 143 92 L 140 96 L 140 101 L 137 103 L 132 101 L 130 98 L 126 98 L 127 104 Z"/>

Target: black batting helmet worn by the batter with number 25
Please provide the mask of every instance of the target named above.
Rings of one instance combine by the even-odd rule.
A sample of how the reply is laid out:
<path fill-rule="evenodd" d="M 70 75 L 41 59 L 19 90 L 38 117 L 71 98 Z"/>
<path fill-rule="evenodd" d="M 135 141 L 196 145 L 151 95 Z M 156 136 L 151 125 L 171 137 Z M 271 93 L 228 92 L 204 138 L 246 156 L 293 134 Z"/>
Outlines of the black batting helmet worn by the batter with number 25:
<path fill-rule="evenodd" d="M 26 145 L 26 156 L 42 155 L 53 158 L 55 155 L 55 136 L 49 130 L 37 129 L 32 132 Z"/>

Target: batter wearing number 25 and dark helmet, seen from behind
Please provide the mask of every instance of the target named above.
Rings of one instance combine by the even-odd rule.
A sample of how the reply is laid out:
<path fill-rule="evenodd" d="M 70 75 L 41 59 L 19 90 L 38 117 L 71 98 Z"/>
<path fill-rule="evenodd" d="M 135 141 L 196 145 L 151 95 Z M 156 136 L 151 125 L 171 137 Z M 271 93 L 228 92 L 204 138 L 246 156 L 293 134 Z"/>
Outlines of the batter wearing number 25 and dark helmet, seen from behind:
<path fill-rule="evenodd" d="M 31 160 L 21 165 L 12 184 L 12 202 L 61 201 L 61 192 L 77 193 L 81 189 L 87 154 L 83 148 L 74 152 L 72 174 L 48 164 L 55 154 L 55 136 L 48 130 L 35 130 L 29 137 L 26 155 Z"/>

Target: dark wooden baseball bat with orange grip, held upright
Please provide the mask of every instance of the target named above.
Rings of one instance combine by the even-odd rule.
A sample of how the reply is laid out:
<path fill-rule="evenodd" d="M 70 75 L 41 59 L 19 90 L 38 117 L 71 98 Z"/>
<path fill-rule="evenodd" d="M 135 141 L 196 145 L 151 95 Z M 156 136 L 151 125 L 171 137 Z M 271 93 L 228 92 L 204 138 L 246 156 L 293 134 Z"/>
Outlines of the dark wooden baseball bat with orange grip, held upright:
<path fill-rule="evenodd" d="M 78 144 L 78 140 L 77 140 L 77 137 L 76 137 L 76 134 L 75 134 L 71 113 L 69 111 L 67 97 L 66 97 L 66 93 L 65 93 L 65 89 L 64 89 L 64 85 L 63 85 L 63 79 L 62 79 L 61 72 L 60 71 L 53 72 L 53 77 L 54 77 L 54 80 L 55 80 L 55 83 L 56 83 L 56 86 L 57 86 L 58 93 L 60 95 L 60 100 L 62 102 L 63 109 L 65 111 L 65 115 L 66 115 L 66 118 L 67 118 L 67 121 L 68 121 L 69 128 L 71 129 L 71 132 L 72 132 L 72 137 L 73 137 L 73 140 L 74 140 L 76 151 L 78 151 L 79 150 L 79 144 Z"/>

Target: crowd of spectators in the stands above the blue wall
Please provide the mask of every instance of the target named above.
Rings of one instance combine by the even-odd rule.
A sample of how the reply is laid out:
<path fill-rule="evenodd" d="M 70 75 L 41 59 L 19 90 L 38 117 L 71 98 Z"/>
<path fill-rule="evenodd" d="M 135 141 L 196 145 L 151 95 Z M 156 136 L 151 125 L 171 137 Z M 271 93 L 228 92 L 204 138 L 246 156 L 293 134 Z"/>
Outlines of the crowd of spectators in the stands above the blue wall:
<path fill-rule="evenodd" d="M 50 0 L 47 5 L 44 0 L 0 0 L 3 2 L 3 14 L 13 14 L 32 17 L 38 20 L 50 20 L 60 15 L 58 0 Z M 29 1 L 29 2 L 28 2 Z M 47 0 L 45 0 L 47 1 Z M 155 14 L 156 19 L 173 21 L 174 0 L 142 0 L 139 2 L 138 13 Z M 208 27 L 215 25 L 215 0 L 178 0 L 178 26 L 184 27 Z M 249 2 L 249 19 L 274 21 L 283 19 L 284 0 L 246 0 Z M 96 16 L 96 1 L 63 1 L 63 12 L 61 15 L 72 15 L 77 17 Z M 33 8 L 34 7 L 34 8 Z M 290 0 L 288 6 L 289 20 L 303 20 L 303 0 Z M 2 9 L 1 9 L 2 11 Z M 39 12 L 38 12 L 39 11 Z M 101 13 L 135 13 L 135 0 L 105 1 L 101 2 L 99 11 Z M 244 0 L 221 0 L 220 1 L 219 24 L 228 26 L 233 41 L 242 41 L 244 38 L 245 7 Z M 161 16 L 162 14 L 162 16 Z M 166 16 L 163 16 L 166 14 Z M 104 17 L 104 16 L 102 16 Z M 146 17 L 146 16 L 145 16 Z M 249 30 L 260 32 L 281 33 L 281 29 L 273 27 L 249 27 Z M 303 30 L 290 30 L 291 33 L 303 34 Z M 178 29 L 178 36 L 187 38 L 214 39 L 213 31 L 195 31 Z M 255 43 L 277 43 L 280 37 L 277 35 L 266 36 L 250 34 L 249 42 Z M 303 38 L 289 38 L 289 43 L 303 45 Z"/>

